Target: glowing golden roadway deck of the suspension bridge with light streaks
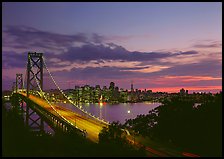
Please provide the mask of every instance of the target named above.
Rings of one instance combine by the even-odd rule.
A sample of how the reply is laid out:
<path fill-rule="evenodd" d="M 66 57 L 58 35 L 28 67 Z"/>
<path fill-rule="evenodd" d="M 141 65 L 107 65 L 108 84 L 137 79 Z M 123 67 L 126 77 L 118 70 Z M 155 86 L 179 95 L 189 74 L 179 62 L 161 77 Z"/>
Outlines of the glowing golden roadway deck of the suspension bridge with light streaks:
<path fill-rule="evenodd" d="M 20 92 L 19 94 L 26 96 L 26 93 Z M 69 109 L 63 108 L 62 106 L 51 104 L 59 113 L 58 114 L 45 100 L 33 95 L 29 95 L 29 99 L 56 116 L 59 116 L 59 114 L 62 115 L 65 119 L 67 119 L 73 125 L 76 125 L 81 130 L 86 130 L 87 138 L 94 142 L 98 142 L 98 134 L 103 129 L 103 127 L 106 126 L 103 123 L 96 123 L 92 119 L 81 116 Z"/>

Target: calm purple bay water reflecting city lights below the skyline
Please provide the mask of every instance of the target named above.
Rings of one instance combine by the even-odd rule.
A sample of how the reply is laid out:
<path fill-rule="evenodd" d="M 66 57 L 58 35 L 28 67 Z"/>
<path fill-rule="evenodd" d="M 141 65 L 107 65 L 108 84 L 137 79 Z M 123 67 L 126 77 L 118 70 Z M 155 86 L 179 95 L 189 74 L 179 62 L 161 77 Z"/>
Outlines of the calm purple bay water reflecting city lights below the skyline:
<path fill-rule="evenodd" d="M 124 124 L 125 119 L 133 119 L 140 114 L 148 114 L 148 112 L 161 103 L 120 103 L 120 104 L 107 104 L 107 103 L 96 103 L 96 104 L 82 104 L 83 109 L 100 119 L 104 119 L 109 122 L 119 121 Z M 58 104 L 72 111 L 77 111 L 72 104 L 60 103 Z"/>

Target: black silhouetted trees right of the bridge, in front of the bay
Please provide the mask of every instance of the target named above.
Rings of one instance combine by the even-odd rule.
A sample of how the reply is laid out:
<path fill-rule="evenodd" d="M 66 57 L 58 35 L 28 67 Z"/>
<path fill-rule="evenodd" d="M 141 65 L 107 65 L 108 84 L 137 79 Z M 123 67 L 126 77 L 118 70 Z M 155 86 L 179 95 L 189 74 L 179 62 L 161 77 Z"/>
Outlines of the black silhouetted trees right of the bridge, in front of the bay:
<path fill-rule="evenodd" d="M 199 105 L 187 95 L 167 98 L 147 115 L 127 120 L 125 126 L 200 156 L 221 157 L 222 92 L 207 94 Z"/>

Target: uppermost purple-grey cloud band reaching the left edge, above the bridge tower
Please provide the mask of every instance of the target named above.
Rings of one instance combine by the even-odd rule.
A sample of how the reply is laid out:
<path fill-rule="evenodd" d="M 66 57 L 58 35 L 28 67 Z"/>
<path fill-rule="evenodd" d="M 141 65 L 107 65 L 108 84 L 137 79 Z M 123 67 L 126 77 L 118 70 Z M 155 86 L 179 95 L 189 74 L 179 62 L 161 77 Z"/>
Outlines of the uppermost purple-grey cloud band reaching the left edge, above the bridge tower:
<path fill-rule="evenodd" d="M 103 38 L 97 34 L 86 35 L 77 33 L 75 35 L 62 35 L 26 26 L 7 26 L 3 29 L 3 47 L 15 49 L 58 49 L 71 47 L 74 42 L 88 43 L 89 41 L 99 43 Z"/>

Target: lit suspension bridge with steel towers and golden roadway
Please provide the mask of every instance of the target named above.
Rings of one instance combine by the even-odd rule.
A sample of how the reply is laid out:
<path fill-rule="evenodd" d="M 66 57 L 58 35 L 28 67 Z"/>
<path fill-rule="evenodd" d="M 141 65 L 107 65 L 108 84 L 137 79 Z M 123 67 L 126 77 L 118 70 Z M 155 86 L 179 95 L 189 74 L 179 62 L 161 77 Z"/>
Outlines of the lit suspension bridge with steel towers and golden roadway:
<path fill-rule="evenodd" d="M 98 142 L 100 131 L 103 127 L 107 127 L 109 122 L 76 105 L 60 89 L 47 68 L 43 53 L 29 52 L 27 60 L 25 80 L 23 74 L 16 74 L 16 82 L 13 83 L 13 91 L 10 97 L 12 105 L 19 106 L 23 111 L 26 125 L 37 132 L 44 132 L 45 122 L 56 133 L 79 132 L 88 139 Z M 43 91 L 44 68 L 64 98 L 77 108 L 76 112 L 49 100 L 47 93 Z M 34 119 L 34 115 L 38 117 Z"/>

